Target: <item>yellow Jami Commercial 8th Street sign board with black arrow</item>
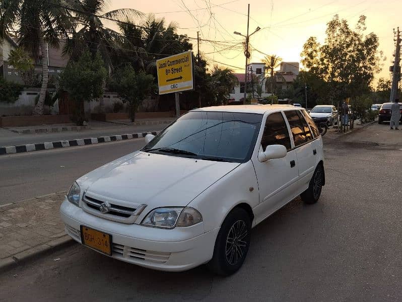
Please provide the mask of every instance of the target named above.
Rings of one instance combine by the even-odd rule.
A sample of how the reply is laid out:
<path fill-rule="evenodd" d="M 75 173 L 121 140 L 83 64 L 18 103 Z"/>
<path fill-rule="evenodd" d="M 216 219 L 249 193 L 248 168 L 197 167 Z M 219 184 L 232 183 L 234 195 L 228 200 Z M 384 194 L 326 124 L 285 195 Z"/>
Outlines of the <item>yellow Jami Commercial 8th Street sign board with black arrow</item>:
<path fill-rule="evenodd" d="M 192 51 L 156 60 L 159 94 L 192 90 Z"/>

